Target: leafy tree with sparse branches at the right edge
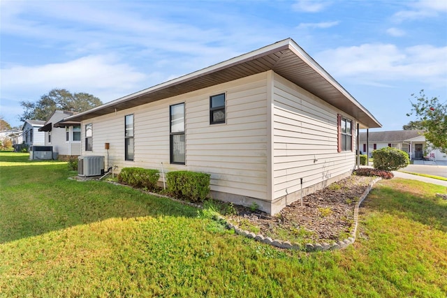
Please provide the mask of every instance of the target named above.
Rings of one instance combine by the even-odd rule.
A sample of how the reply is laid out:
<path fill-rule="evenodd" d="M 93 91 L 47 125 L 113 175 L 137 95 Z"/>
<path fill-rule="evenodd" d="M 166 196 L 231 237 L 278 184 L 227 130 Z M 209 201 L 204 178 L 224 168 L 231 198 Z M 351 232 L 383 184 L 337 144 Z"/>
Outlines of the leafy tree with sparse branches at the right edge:
<path fill-rule="evenodd" d="M 432 149 L 447 154 L 447 103 L 441 103 L 437 97 L 428 98 L 424 90 L 418 95 L 411 94 L 416 102 L 411 102 L 410 116 L 415 114 L 420 121 L 420 127 L 425 131 L 425 140 L 430 143 Z"/>

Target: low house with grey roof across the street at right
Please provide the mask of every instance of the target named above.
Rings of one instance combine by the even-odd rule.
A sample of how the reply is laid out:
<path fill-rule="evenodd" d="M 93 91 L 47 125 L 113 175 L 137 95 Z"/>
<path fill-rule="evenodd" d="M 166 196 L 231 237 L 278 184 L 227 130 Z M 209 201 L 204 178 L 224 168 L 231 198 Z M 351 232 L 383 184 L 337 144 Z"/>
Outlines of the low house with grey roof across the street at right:
<path fill-rule="evenodd" d="M 369 147 L 367 147 L 367 142 Z M 430 149 L 424 136 L 424 131 L 374 131 L 360 133 L 360 150 L 372 157 L 372 151 L 384 147 L 393 147 L 405 151 L 413 159 L 431 159 L 433 161 L 447 161 L 446 154 L 438 149 Z"/>

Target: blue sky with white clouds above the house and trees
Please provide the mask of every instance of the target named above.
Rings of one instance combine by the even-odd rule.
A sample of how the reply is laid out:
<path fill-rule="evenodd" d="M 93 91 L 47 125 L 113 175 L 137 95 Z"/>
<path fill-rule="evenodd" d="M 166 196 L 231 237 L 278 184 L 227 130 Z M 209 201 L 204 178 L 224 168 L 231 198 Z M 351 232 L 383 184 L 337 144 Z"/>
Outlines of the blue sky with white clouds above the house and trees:
<path fill-rule="evenodd" d="M 447 100 L 447 1 L 2 0 L 0 116 L 54 88 L 103 103 L 291 37 L 383 128 Z M 376 129 L 377 131 L 377 129 Z"/>

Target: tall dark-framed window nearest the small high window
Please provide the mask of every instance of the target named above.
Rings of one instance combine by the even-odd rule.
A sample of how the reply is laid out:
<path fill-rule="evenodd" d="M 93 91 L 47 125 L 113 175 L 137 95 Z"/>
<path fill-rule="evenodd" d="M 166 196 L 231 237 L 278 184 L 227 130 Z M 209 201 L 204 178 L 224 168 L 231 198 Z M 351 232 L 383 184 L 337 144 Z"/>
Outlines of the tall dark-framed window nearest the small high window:
<path fill-rule="evenodd" d="M 184 165 L 184 103 L 170 106 L 170 163 Z"/>

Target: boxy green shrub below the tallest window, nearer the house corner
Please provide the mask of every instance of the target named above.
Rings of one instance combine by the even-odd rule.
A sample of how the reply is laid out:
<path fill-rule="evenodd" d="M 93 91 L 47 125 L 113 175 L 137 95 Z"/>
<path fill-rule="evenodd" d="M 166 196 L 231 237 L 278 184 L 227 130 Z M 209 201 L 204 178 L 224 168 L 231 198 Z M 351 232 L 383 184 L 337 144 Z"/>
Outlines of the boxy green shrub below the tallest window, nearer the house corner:
<path fill-rule="evenodd" d="M 203 202 L 210 192 L 210 174 L 173 171 L 166 174 L 168 192 L 189 202 Z"/>

